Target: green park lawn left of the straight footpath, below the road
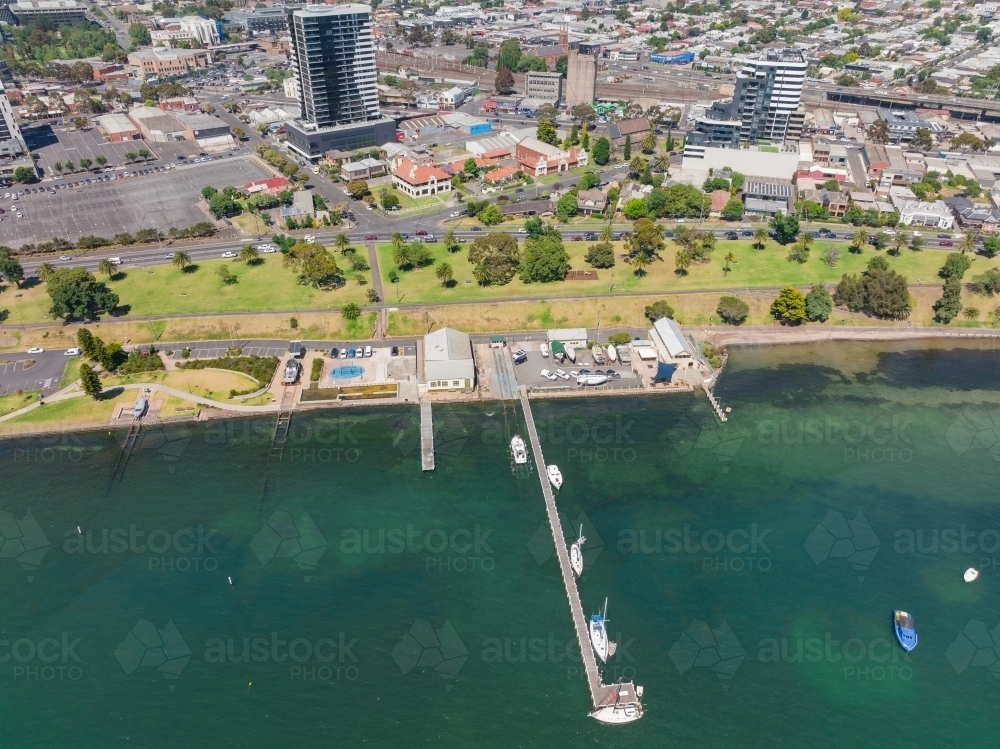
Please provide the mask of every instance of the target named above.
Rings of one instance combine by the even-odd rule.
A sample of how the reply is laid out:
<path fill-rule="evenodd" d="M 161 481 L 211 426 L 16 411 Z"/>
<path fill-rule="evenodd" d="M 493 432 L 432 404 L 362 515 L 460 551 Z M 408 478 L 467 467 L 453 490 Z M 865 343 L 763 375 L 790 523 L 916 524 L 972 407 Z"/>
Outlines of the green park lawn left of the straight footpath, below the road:
<path fill-rule="evenodd" d="M 347 270 L 347 283 L 340 289 L 320 291 L 300 286 L 295 274 L 281 267 L 277 255 L 267 256 L 259 265 L 248 266 L 231 260 L 203 260 L 198 270 L 184 273 L 172 265 L 127 268 L 121 280 L 108 285 L 129 307 L 132 315 L 169 315 L 191 312 L 268 311 L 277 309 L 329 309 L 347 302 L 366 304 L 365 289 L 357 283 L 362 276 L 367 283 L 371 273 L 349 270 L 350 264 L 337 254 L 337 264 Z M 227 267 L 239 279 L 222 283 L 216 270 Z M 104 278 L 102 277 L 102 280 Z M 45 284 L 22 290 L 20 297 L 4 294 L 3 305 L 10 309 L 10 321 L 42 322 L 49 318 L 50 300 Z"/>

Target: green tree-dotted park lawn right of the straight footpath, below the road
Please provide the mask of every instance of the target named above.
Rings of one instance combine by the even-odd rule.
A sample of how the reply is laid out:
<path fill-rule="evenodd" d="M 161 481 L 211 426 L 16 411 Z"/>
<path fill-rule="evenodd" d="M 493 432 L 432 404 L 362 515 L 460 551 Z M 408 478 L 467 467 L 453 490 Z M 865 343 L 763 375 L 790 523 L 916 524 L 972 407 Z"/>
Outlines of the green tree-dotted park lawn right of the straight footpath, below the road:
<path fill-rule="evenodd" d="M 566 251 L 570 256 L 570 265 L 577 270 L 588 270 L 583 257 L 591 242 L 567 242 Z M 621 242 L 615 242 L 616 257 L 623 252 Z M 818 282 L 836 283 L 844 273 L 860 273 L 868 261 L 876 253 L 866 249 L 860 255 L 852 255 L 847 251 L 845 243 L 821 242 L 813 244 L 808 261 L 805 263 L 791 262 L 787 259 L 788 249 L 769 242 L 763 250 L 755 250 L 750 241 L 719 241 L 707 263 L 696 263 L 688 269 L 684 276 L 674 272 L 674 254 L 678 247 L 668 241 L 666 249 L 661 253 L 662 261 L 649 266 L 646 275 L 639 278 L 631 266 L 625 265 L 620 258 L 614 268 L 598 270 L 598 281 L 559 281 L 549 284 L 525 284 L 515 278 L 506 286 L 481 288 L 472 278 L 472 265 L 468 261 L 469 244 L 462 245 L 459 252 L 449 255 L 440 244 L 429 244 L 426 247 L 434 255 L 435 264 L 446 261 L 455 271 L 455 285 L 445 288 L 434 275 L 434 266 L 427 266 L 406 272 L 399 272 L 399 291 L 396 285 L 390 284 L 387 274 L 395 268 L 392 262 L 392 245 L 378 246 L 379 267 L 382 271 L 383 286 L 386 301 L 393 303 L 402 297 L 403 303 L 441 302 L 441 301 L 479 301 L 504 299 L 511 297 L 538 297 L 545 299 L 555 296 L 598 295 L 609 293 L 635 292 L 671 292 L 698 291 L 702 289 L 744 289 L 747 287 L 775 286 L 806 286 Z M 840 251 L 841 255 L 835 267 L 830 267 L 823 259 L 823 251 L 831 247 Z M 735 261 L 730 264 L 730 272 L 724 272 L 724 258 L 732 252 Z M 892 257 L 885 252 L 879 253 L 886 257 L 889 266 L 907 277 L 911 284 L 940 283 L 937 271 L 944 263 L 945 254 L 937 250 L 912 252 L 905 250 L 899 257 Z M 966 274 L 971 279 L 976 273 L 992 267 L 993 261 L 977 258 L 972 269 Z"/>

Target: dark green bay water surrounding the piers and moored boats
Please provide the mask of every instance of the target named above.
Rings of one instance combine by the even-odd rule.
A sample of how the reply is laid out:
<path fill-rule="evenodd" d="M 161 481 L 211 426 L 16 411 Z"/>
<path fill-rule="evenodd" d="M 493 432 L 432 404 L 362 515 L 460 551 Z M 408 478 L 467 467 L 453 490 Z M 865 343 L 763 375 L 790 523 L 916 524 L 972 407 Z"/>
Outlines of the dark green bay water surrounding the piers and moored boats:
<path fill-rule="evenodd" d="M 509 405 L 436 407 L 433 474 L 416 409 L 296 416 L 263 495 L 264 420 L 148 430 L 110 489 L 120 434 L 0 443 L 0 744 L 995 746 L 998 365 L 736 350 L 724 426 L 693 396 L 533 404 L 605 679 L 646 690 L 618 728 Z"/>

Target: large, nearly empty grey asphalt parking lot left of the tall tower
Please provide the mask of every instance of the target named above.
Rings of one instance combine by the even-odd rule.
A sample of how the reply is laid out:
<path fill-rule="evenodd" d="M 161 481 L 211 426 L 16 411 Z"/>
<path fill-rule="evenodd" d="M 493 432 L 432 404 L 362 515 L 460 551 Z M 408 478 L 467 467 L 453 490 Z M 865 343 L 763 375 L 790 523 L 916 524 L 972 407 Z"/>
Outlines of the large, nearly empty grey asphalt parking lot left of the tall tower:
<path fill-rule="evenodd" d="M 46 188 L 59 184 L 67 187 L 57 189 L 55 194 L 24 195 L 16 203 L 4 199 L 0 206 L 6 211 L 0 217 L 0 244 L 19 247 L 47 242 L 52 237 L 75 241 L 84 234 L 110 238 L 118 232 L 147 228 L 166 234 L 171 226 L 182 228 L 211 218 L 197 207 L 200 191 L 206 185 L 221 189 L 267 176 L 249 157 L 238 156 L 80 187 L 69 187 L 84 179 L 80 176 L 44 182 Z M 12 207 L 23 218 L 16 218 L 10 212 Z"/>

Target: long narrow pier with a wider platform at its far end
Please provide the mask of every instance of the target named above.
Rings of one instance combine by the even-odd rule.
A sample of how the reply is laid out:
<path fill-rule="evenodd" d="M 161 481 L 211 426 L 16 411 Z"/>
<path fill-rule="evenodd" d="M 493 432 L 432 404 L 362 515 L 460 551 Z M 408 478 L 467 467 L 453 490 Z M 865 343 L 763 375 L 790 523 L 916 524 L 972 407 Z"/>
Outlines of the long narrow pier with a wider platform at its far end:
<path fill-rule="evenodd" d="M 556 558 L 559 560 L 559 571 L 562 574 L 563 585 L 566 588 L 566 598 L 569 600 L 570 612 L 573 616 L 573 629 L 576 631 L 577 644 L 580 646 L 580 657 L 583 660 L 587 675 L 587 686 L 590 688 L 590 698 L 594 703 L 594 717 L 606 723 L 630 723 L 642 716 L 642 705 L 636 694 L 635 686 L 618 683 L 607 685 L 601 681 L 601 672 L 597 668 L 597 658 L 590 644 L 590 633 L 587 629 L 587 617 L 583 613 L 583 603 L 576 589 L 576 577 L 569 561 L 569 550 L 566 547 L 566 536 L 563 534 L 562 521 L 556 508 L 556 499 L 549 485 L 545 471 L 545 458 L 542 456 L 541 442 L 535 427 L 535 417 L 528 403 L 528 390 L 521 386 L 521 408 L 524 410 L 524 420 L 531 436 L 531 449 L 538 468 L 538 478 L 542 484 L 542 494 L 545 496 L 545 511 L 549 518 L 549 528 L 552 529 L 552 541 L 556 547 Z"/>

